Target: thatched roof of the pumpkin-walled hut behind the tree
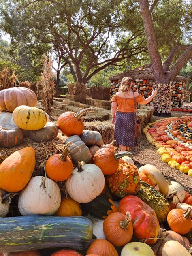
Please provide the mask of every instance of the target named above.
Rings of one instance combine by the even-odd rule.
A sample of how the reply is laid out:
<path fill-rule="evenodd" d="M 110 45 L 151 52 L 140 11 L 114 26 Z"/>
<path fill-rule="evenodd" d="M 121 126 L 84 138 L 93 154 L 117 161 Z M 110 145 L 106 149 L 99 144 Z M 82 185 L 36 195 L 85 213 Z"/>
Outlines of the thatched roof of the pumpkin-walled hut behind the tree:
<path fill-rule="evenodd" d="M 133 70 L 130 71 L 125 71 L 123 73 L 119 73 L 116 75 L 113 75 L 111 77 L 109 77 L 110 80 L 114 81 L 114 80 L 121 80 L 123 77 L 131 77 L 134 79 L 149 79 L 149 80 L 154 80 L 154 75 L 151 69 L 151 64 L 145 64 L 139 68 L 134 68 Z M 176 77 L 178 81 L 185 81 L 186 82 L 186 78 L 177 75 Z"/>

